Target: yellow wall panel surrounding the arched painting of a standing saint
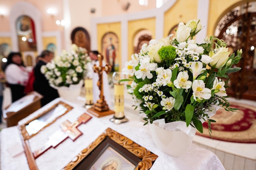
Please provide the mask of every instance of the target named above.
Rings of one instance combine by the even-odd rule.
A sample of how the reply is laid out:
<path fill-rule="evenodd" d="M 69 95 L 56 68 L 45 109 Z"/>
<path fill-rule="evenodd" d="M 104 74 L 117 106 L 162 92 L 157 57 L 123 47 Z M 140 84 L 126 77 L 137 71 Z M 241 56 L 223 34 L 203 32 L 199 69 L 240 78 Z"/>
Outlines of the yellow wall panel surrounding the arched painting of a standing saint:
<path fill-rule="evenodd" d="M 98 39 L 98 50 L 100 53 L 102 53 L 101 49 L 102 49 L 102 38 L 106 33 L 115 33 L 117 35 L 118 38 L 118 42 L 119 42 L 119 46 L 117 47 L 117 63 L 119 64 L 119 71 L 121 71 L 122 68 L 120 68 L 121 66 L 121 23 L 120 22 L 114 22 L 114 23 L 108 23 L 108 24 L 98 24 L 97 25 L 97 39 Z"/>

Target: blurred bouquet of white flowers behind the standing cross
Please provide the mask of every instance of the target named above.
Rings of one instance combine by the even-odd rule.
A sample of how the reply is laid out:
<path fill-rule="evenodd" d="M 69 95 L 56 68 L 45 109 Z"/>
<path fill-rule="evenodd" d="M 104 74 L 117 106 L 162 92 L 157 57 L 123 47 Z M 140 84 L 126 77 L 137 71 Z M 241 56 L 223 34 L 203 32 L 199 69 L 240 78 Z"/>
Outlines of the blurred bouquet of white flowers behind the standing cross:
<path fill-rule="evenodd" d="M 85 76 L 87 63 L 91 62 L 85 48 L 72 44 L 70 53 L 63 51 L 51 62 L 41 67 L 41 73 L 45 74 L 51 86 L 69 87 L 71 84 L 79 84 Z"/>

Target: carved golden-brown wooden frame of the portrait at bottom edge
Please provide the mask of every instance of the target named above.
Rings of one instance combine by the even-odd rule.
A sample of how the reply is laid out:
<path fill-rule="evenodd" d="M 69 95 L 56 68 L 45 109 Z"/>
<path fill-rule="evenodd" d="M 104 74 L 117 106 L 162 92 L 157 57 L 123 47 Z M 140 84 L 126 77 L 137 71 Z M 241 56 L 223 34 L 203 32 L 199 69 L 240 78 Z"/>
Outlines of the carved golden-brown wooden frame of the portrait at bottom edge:
<path fill-rule="evenodd" d="M 135 170 L 149 170 L 158 157 L 146 148 L 139 146 L 134 141 L 119 134 L 115 130 L 108 128 L 94 142 L 92 142 L 92 144 L 90 144 L 87 148 L 82 150 L 74 159 L 72 159 L 72 161 L 70 161 L 70 163 L 68 163 L 67 166 L 63 168 L 63 170 L 85 170 L 86 167 L 90 168 L 91 166 L 88 165 L 88 163 L 94 163 L 100 156 L 97 154 L 93 155 L 93 152 L 97 152 L 97 148 L 99 148 L 100 145 L 104 142 L 107 145 L 109 143 L 112 143 L 111 145 L 114 146 L 114 148 L 119 148 L 117 149 L 117 151 L 123 150 L 123 153 L 126 153 L 125 155 L 123 155 L 124 157 L 126 157 L 126 159 L 137 160 Z M 106 148 L 106 144 L 103 144 L 104 146 L 101 146 L 101 148 L 99 148 L 98 150 L 102 151 L 102 148 Z M 135 159 L 131 157 L 135 157 Z"/>

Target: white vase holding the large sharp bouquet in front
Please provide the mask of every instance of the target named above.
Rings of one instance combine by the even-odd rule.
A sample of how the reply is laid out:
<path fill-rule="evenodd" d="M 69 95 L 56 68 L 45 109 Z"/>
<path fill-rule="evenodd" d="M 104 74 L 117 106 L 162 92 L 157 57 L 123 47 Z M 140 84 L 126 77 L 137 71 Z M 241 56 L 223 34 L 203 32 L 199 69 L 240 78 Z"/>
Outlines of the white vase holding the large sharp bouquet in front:
<path fill-rule="evenodd" d="M 193 141 L 193 136 L 183 131 L 165 130 L 155 124 L 149 124 L 149 127 L 157 148 L 173 157 L 183 155 Z"/>

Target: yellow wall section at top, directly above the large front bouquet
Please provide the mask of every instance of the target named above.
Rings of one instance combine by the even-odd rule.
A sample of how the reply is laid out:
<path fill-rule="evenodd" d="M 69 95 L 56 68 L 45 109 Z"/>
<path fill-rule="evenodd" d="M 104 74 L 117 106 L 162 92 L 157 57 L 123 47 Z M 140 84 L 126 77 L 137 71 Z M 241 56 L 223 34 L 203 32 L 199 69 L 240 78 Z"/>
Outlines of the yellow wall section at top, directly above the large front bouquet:
<path fill-rule="evenodd" d="M 164 13 L 164 37 L 180 22 L 186 23 L 197 18 L 197 0 L 177 0 L 173 7 Z M 199 18 L 200 19 L 200 18 Z"/>

